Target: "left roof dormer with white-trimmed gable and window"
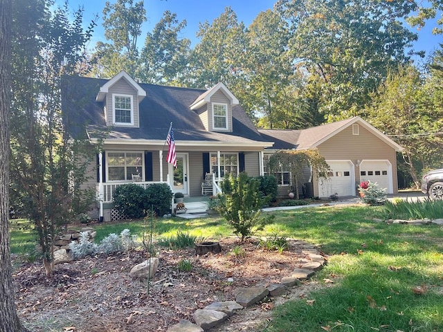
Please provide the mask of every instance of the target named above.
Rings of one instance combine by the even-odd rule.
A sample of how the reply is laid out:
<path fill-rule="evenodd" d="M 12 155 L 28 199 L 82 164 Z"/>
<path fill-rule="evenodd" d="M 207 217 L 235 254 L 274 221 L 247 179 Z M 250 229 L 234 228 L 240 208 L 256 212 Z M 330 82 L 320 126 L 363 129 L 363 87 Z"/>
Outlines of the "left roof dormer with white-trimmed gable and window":
<path fill-rule="evenodd" d="M 125 71 L 120 71 L 100 87 L 96 100 L 105 104 L 107 126 L 140 127 L 138 105 L 146 91 Z"/>

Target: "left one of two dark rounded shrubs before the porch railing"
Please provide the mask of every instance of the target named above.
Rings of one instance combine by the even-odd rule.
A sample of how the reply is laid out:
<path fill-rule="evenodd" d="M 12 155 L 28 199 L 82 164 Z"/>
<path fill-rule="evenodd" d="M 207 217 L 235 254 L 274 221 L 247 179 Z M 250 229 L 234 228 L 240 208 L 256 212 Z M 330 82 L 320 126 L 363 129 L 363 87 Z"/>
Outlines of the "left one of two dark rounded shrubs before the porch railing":
<path fill-rule="evenodd" d="M 139 219 L 145 216 L 147 192 L 140 185 L 128 183 L 116 187 L 113 199 L 116 210 L 129 218 Z"/>

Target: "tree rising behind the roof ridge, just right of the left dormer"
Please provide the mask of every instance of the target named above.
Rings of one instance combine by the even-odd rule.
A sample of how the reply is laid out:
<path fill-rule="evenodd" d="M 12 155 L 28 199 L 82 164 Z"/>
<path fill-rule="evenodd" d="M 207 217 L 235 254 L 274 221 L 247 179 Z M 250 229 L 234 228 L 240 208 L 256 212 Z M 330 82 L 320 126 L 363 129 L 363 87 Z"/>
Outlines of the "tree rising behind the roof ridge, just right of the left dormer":
<path fill-rule="evenodd" d="M 137 75 L 142 82 L 177 84 L 183 77 L 190 54 L 190 40 L 179 37 L 185 27 L 186 21 L 179 22 L 177 14 L 167 10 L 152 33 L 147 33 Z"/>

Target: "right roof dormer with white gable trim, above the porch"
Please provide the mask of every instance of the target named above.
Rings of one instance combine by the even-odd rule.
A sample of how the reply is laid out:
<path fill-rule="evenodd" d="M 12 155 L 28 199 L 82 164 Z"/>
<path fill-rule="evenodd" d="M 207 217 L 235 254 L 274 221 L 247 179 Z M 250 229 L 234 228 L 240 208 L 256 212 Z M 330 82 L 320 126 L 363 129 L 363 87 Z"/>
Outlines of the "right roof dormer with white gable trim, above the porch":
<path fill-rule="evenodd" d="M 196 111 L 208 131 L 233 131 L 232 109 L 239 104 L 221 82 L 199 96 L 190 109 Z"/>

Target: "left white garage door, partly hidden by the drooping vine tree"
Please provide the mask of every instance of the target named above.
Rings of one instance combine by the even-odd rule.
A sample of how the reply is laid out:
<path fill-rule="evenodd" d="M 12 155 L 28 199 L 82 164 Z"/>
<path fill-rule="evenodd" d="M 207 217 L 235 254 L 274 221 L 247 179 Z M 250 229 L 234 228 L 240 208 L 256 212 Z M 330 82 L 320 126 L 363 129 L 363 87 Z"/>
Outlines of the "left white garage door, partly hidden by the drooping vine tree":
<path fill-rule="evenodd" d="M 335 193 L 338 197 L 355 195 L 353 164 L 348 160 L 326 162 L 331 167 L 329 178 L 318 181 L 318 196 L 328 197 Z"/>

